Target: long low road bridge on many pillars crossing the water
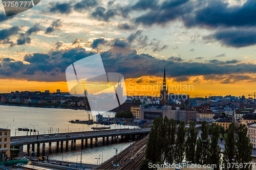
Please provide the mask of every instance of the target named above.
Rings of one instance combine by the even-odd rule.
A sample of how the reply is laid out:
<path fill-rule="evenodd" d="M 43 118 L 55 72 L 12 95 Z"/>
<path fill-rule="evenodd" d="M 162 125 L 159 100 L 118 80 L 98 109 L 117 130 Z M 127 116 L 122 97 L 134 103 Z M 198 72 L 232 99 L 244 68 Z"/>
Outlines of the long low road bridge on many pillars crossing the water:
<path fill-rule="evenodd" d="M 40 146 L 42 145 L 42 155 L 45 155 L 46 144 L 49 143 L 51 148 L 52 142 L 56 142 L 56 152 L 63 151 L 63 143 L 66 141 L 66 151 L 69 149 L 69 143 L 71 141 L 71 150 L 76 146 L 76 141 L 81 140 L 81 149 L 88 148 L 88 139 L 90 139 L 90 147 L 93 147 L 93 141 L 95 147 L 98 145 L 98 138 L 102 138 L 102 144 L 108 145 L 116 143 L 121 140 L 137 140 L 137 137 L 142 138 L 150 132 L 150 128 L 145 129 L 112 129 L 112 130 L 101 130 L 101 131 L 84 131 L 84 132 L 73 132 L 73 133 L 60 133 L 49 136 L 37 135 L 37 136 L 17 136 L 11 137 L 11 148 L 19 149 L 23 153 L 23 146 L 27 145 L 27 154 L 30 155 L 30 145 L 32 145 L 31 151 L 35 151 L 35 144 L 37 146 L 37 156 L 40 155 Z M 95 140 L 93 140 L 95 139 Z M 85 142 L 84 142 L 85 141 Z M 60 147 L 60 148 L 59 148 Z"/>

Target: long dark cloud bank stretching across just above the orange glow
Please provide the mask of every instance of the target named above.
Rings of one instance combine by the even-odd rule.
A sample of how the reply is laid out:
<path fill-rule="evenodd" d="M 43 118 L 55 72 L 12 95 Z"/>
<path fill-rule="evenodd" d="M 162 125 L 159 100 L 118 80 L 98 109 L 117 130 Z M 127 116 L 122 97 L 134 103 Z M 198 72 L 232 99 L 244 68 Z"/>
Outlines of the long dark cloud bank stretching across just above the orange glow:
<path fill-rule="evenodd" d="M 122 53 L 115 53 L 115 48 L 101 53 L 101 58 L 106 72 L 120 72 L 127 78 L 139 78 L 141 76 L 162 76 L 163 67 L 166 67 L 167 77 L 185 77 L 204 75 L 223 76 L 229 74 L 256 73 L 256 65 L 251 63 L 239 63 L 222 65 L 219 62 L 198 63 L 182 62 L 182 59 L 162 60 L 148 54 L 138 54 L 135 50 L 127 50 Z M 120 48 L 119 48 L 120 50 Z M 24 57 L 22 61 L 14 61 L 4 58 L 0 62 L 0 78 L 27 78 L 35 81 L 65 81 L 66 68 L 75 61 L 95 53 L 87 52 L 84 48 L 73 48 L 66 51 L 54 51 L 48 54 L 35 53 Z M 224 63 L 228 63 L 226 61 Z M 55 75 L 55 76 L 53 76 Z M 217 79 L 217 78 L 211 78 Z M 232 77 L 242 80 L 246 77 Z M 181 81 L 180 79 L 177 79 Z M 225 79 L 228 82 L 228 79 Z M 223 81 L 224 83 L 224 81 Z"/>

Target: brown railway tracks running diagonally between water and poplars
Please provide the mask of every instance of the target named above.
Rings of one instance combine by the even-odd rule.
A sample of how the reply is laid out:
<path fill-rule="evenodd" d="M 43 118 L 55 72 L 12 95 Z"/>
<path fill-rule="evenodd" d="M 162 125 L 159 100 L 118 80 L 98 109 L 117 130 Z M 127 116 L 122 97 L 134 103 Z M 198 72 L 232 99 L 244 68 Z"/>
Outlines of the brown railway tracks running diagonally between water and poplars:
<path fill-rule="evenodd" d="M 140 169 L 140 164 L 145 157 L 147 138 L 148 137 L 146 136 L 145 138 L 134 142 L 131 145 L 131 148 L 127 147 L 121 153 L 117 154 L 116 157 L 112 157 L 94 169 Z"/>

